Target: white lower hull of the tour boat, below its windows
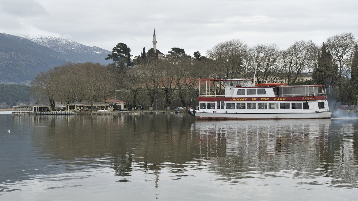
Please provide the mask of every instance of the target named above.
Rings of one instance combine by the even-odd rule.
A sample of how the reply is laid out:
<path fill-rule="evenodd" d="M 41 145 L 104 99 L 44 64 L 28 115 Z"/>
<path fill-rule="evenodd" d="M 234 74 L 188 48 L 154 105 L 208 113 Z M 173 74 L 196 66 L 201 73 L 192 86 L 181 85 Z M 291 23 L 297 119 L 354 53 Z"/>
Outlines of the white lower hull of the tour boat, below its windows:
<path fill-rule="evenodd" d="M 195 111 L 195 112 L 194 112 Z M 327 119 L 331 118 L 332 111 L 322 112 L 287 112 L 287 113 L 224 113 L 204 112 L 190 109 L 188 113 L 197 119 Z"/>

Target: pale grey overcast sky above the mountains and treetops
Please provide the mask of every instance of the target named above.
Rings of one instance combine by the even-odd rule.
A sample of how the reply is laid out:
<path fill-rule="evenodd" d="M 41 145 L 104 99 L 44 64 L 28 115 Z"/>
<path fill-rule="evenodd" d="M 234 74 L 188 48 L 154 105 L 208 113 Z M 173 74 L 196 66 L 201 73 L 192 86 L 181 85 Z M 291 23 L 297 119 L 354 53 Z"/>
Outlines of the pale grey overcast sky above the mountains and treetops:
<path fill-rule="evenodd" d="M 0 0 L 0 33 L 59 36 L 106 50 L 118 43 L 140 55 L 173 47 L 186 53 L 240 39 L 288 48 L 329 36 L 358 37 L 357 0 Z M 0 44 L 1 45 L 1 44 Z"/>

